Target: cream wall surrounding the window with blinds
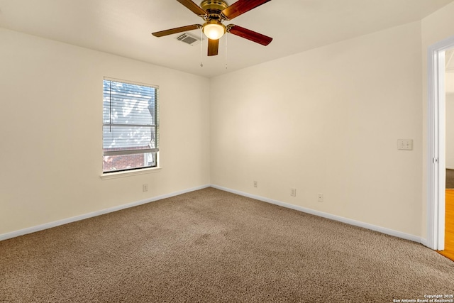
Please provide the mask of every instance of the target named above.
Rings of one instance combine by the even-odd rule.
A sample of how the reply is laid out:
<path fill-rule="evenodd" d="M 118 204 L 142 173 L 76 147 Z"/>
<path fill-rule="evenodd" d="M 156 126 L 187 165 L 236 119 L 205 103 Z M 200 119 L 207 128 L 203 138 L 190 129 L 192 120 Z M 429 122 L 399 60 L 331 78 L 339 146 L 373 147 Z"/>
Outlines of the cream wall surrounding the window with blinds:
<path fill-rule="evenodd" d="M 209 184 L 208 79 L 4 29 L 0 45 L 0 235 Z M 101 180 L 104 76 L 159 85 L 160 172 Z"/>

